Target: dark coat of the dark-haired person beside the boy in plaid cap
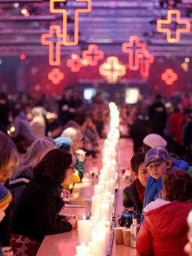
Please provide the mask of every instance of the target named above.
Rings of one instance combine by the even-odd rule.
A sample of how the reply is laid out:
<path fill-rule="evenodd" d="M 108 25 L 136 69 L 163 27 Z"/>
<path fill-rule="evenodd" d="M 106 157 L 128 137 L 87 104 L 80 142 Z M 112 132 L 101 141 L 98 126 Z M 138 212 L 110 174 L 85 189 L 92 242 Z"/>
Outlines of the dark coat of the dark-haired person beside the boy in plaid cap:
<path fill-rule="evenodd" d="M 140 198 L 138 197 L 138 192 L 135 186 L 135 180 L 129 187 L 126 187 L 123 189 L 122 201 L 123 201 L 124 207 L 133 206 L 134 210 L 138 210 L 141 214 L 143 209 L 143 204 Z"/>

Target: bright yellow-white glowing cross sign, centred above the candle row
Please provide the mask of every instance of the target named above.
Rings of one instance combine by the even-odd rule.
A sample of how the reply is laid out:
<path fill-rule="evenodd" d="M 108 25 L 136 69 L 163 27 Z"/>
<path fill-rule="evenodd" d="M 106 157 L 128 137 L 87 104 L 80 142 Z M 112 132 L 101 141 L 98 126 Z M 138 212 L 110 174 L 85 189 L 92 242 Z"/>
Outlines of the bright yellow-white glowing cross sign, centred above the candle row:
<path fill-rule="evenodd" d="M 108 57 L 100 68 L 101 76 L 106 77 L 108 83 L 116 83 L 126 74 L 126 67 L 119 62 L 117 57 Z"/>

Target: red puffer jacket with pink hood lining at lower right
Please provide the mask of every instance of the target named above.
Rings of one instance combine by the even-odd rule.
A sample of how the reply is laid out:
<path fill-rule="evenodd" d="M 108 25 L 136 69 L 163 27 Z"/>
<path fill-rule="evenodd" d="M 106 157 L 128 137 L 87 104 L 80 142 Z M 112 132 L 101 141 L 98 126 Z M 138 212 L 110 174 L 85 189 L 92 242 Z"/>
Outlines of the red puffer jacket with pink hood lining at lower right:
<path fill-rule="evenodd" d="M 141 255 L 186 256 L 187 216 L 189 202 L 169 202 L 157 199 L 144 209 L 145 219 L 136 237 L 136 249 Z"/>

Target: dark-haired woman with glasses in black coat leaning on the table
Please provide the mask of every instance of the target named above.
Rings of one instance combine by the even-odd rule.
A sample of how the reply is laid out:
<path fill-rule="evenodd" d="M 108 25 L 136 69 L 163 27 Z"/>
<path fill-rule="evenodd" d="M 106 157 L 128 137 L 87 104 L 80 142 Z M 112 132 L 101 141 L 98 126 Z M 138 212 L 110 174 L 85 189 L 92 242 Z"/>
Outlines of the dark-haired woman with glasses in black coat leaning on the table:
<path fill-rule="evenodd" d="M 65 150 L 49 151 L 34 168 L 30 180 L 12 215 L 12 233 L 42 242 L 48 234 L 77 228 L 77 218 L 58 215 L 61 184 L 70 184 L 74 166 Z"/>

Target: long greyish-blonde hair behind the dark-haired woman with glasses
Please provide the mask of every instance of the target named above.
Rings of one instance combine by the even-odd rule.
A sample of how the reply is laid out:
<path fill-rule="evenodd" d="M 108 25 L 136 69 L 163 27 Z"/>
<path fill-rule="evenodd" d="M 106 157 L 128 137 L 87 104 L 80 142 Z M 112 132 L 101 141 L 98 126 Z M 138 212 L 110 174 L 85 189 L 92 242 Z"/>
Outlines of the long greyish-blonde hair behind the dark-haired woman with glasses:
<path fill-rule="evenodd" d="M 22 161 L 20 161 L 19 167 L 13 174 L 13 179 L 16 179 L 23 169 L 36 167 L 41 159 L 54 148 L 56 148 L 56 142 L 52 138 L 41 137 L 35 140 L 28 148 Z"/>

